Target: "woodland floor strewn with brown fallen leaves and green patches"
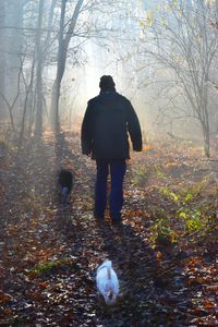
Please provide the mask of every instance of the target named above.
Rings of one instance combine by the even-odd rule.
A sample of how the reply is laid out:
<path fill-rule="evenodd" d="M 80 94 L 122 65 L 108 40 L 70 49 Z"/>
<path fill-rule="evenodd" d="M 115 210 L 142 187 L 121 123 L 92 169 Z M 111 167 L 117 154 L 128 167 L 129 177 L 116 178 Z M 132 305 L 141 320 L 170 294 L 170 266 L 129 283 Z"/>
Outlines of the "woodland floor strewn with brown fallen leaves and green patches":
<path fill-rule="evenodd" d="M 217 146 L 215 144 L 215 146 Z M 93 217 L 95 162 L 78 135 L 0 146 L 0 326 L 218 326 L 218 162 L 190 144 L 145 146 L 124 184 L 122 227 Z M 74 171 L 70 205 L 57 170 Z M 117 305 L 95 274 L 113 262 Z"/>

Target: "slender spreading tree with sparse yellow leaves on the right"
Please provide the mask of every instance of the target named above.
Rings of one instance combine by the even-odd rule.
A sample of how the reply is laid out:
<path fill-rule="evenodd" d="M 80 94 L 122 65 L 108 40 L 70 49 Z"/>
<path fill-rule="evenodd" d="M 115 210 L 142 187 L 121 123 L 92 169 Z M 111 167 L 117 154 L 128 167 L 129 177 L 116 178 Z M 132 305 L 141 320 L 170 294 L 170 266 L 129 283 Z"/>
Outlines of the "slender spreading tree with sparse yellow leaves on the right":
<path fill-rule="evenodd" d="M 205 155 L 209 156 L 209 74 L 218 47 L 210 21 L 214 7 L 199 0 L 168 1 L 158 13 L 147 12 L 140 24 L 148 36 L 144 53 L 175 73 L 177 87 L 184 93 L 192 114 L 202 126 Z M 190 113 L 191 114 L 191 113 Z"/>

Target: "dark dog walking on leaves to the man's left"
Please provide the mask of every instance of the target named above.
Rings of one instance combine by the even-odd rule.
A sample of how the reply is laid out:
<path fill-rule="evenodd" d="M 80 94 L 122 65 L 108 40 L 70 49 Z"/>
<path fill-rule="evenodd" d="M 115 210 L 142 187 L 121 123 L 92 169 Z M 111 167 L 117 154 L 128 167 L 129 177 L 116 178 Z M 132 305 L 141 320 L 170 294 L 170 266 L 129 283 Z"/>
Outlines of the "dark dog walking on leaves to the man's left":
<path fill-rule="evenodd" d="M 61 202 L 70 203 L 70 195 L 73 185 L 73 174 L 71 171 L 61 169 L 58 173 L 58 183 L 60 186 Z"/>

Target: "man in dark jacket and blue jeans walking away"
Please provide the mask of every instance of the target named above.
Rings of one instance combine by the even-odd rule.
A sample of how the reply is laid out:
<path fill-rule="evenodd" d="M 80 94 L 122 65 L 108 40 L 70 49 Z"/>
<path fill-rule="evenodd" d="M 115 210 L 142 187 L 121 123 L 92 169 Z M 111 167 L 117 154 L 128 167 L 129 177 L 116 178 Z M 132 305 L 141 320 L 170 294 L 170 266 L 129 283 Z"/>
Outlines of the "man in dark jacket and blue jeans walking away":
<path fill-rule="evenodd" d="M 110 75 L 99 83 L 100 94 L 88 101 L 82 124 L 82 153 L 96 160 L 94 216 L 104 219 L 107 206 L 107 179 L 110 172 L 110 217 L 121 222 L 125 159 L 130 159 L 129 134 L 133 150 L 142 150 L 142 133 L 131 102 L 116 92 Z"/>

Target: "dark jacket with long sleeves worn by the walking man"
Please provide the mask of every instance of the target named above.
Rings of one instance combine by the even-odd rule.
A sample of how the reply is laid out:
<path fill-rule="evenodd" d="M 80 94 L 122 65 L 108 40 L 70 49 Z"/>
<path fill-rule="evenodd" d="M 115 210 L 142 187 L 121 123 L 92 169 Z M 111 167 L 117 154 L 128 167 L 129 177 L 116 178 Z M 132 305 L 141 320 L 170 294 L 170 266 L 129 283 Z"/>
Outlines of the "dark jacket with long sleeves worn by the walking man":
<path fill-rule="evenodd" d="M 117 92 L 101 92 L 88 101 L 82 124 L 82 153 L 93 159 L 130 158 L 128 133 L 133 149 L 142 150 L 142 133 L 131 102 Z"/>

